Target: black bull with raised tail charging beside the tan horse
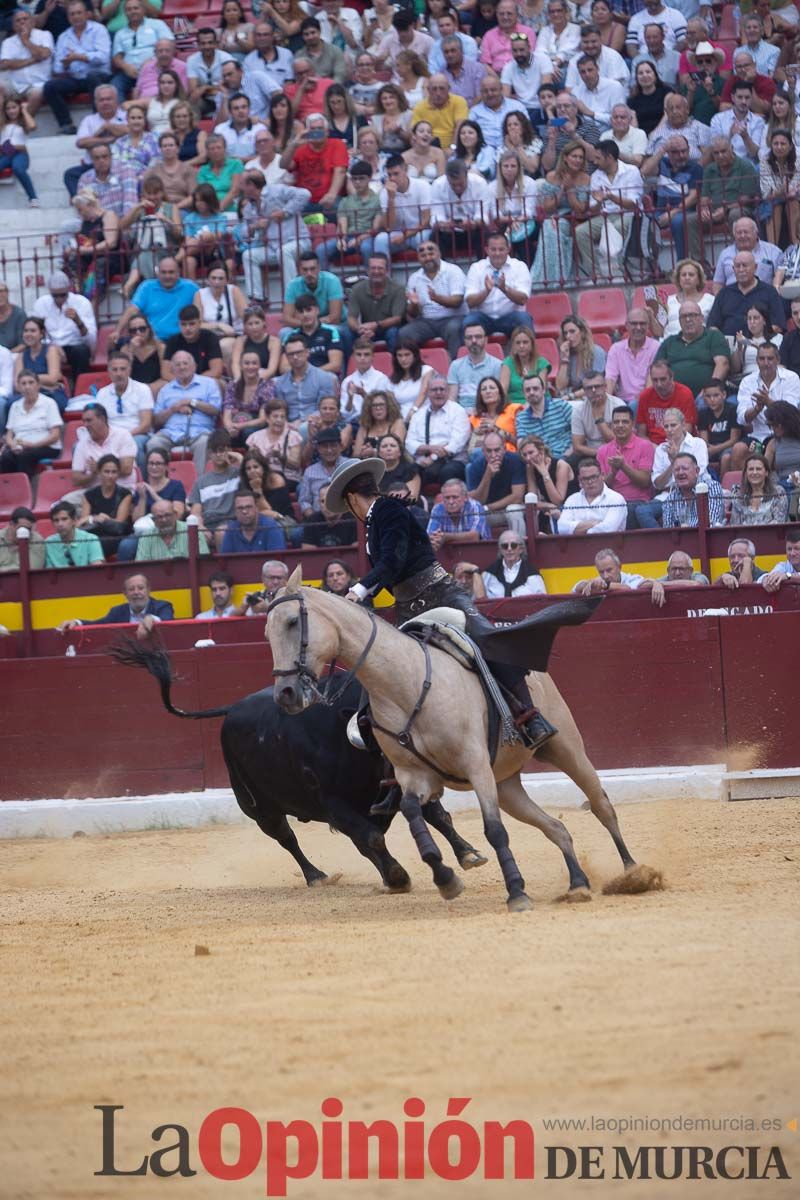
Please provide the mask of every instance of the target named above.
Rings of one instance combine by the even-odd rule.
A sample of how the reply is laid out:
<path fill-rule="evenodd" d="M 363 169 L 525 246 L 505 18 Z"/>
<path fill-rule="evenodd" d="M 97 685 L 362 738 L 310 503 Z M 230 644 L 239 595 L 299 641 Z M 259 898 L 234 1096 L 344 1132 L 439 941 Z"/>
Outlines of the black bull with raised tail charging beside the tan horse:
<path fill-rule="evenodd" d="M 391 816 L 371 816 L 380 793 L 384 758 L 378 750 L 356 750 L 347 739 L 347 722 L 356 710 L 361 685 L 351 682 L 329 704 L 315 704 L 296 716 L 278 708 L 272 688 L 253 692 L 227 708 L 184 712 L 172 702 L 173 671 L 163 648 L 121 638 L 109 650 L 125 666 L 144 667 L 161 686 L 161 698 L 175 716 L 197 721 L 224 716 L 219 734 L 230 786 L 239 808 L 269 838 L 288 850 L 308 887 L 327 878 L 300 848 L 288 816 L 321 821 L 347 834 L 356 850 L 380 872 L 387 888 L 405 892 L 410 880 L 386 850 Z M 336 677 L 324 679 L 325 692 Z M 425 809 L 428 823 L 450 842 L 463 868 L 486 859 L 456 832 L 439 800 Z"/>

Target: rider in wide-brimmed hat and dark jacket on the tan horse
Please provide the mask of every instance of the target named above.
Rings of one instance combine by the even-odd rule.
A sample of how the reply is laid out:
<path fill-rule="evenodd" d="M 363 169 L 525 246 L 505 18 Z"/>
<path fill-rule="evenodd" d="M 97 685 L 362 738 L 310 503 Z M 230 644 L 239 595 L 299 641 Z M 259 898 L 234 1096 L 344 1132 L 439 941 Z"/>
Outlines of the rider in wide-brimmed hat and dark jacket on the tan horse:
<path fill-rule="evenodd" d="M 493 634 L 494 625 L 479 613 L 471 596 L 437 562 L 427 533 L 408 506 L 392 496 L 380 494 L 379 484 L 385 470 L 381 458 L 351 462 L 336 472 L 327 490 L 329 511 L 349 511 L 366 526 L 372 570 L 353 584 L 348 600 L 360 602 L 386 588 L 395 596 L 398 625 L 431 608 L 450 607 L 467 613 L 467 632 L 471 637 L 482 640 Z M 522 739 L 531 751 L 539 750 L 557 731 L 531 704 L 525 684 L 529 668 L 494 661 L 491 650 L 485 653 L 498 682 L 513 697 L 515 724 Z"/>

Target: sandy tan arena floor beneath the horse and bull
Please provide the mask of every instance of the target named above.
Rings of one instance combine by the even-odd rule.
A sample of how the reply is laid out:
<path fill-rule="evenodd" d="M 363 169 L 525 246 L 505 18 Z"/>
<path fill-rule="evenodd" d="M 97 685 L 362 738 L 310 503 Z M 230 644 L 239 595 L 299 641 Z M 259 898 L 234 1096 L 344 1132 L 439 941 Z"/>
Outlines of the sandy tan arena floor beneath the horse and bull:
<path fill-rule="evenodd" d="M 505 912 L 494 863 L 445 904 L 399 822 L 390 845 L 414 892 L 381 894 L 342 836 L 297 827 L 336 887 L 307 890 L 253 826 L 0 844 L 0 1196 L 264 1195 L 264 1170 L 223 1183 L 198 1162 L 215 1108 L 307 1118 L 336 1096 L 343 1120 L 401 1122 L 421 1097 L 431 1126 L 447 1098 L 464 1117 L 523 1118 L 535 1183 L 289 1183 L 289 1196 L 494 1200 L 551 1195 L 796 1195 L 796 802 L 620 808 L 633 853 L 668 889 L 557 905 L 566 874 L 535 830 L 512 846 L 535 901 Z M 616 859 L 588 812 L 566 811 L 595 887 Z M 459 815 L 483 846 L 477 815 Z M 451 859 L 450 859 L 451 860 Z M 196 956 L 196 944 L 209 948 Z M 96 1178 L 96 1104 L 121 1104 L 118 1165 L 191 1133 L 199 1174 Z M 775 1118 L 776 1133 L 548 1133 L 552 1117 Z M 164 1145 L 174 1141 L 172 1134 Z M 557 1182 L 545 1146 L 777 1144 L 792 1182 Z M 233 1157 L 235 1141 L 229 1142 Z M 174 1157 L 168 1165 L 174 1165 Z M 530 1189 L 534 1189 L 533 1192 Z"/>

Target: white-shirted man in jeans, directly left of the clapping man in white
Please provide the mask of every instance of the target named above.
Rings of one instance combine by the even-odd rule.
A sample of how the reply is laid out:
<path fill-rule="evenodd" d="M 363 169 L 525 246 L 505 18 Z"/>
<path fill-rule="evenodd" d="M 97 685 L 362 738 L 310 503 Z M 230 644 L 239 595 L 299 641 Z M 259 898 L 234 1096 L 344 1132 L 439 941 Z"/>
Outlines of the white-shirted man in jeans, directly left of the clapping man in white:
<path fill-rule="evenodd" d="M 450 358 L 455 359 L 462 346 L 467 276 L 455 263 L 443 263 L 435 241 L 423 241 L 416 257 L 420 270 L 409 276 L 405 290 L 411 319 L 402 326 L 399 337 L 411 338 L 417 346 L 441 337 L 447 343 Z"/>

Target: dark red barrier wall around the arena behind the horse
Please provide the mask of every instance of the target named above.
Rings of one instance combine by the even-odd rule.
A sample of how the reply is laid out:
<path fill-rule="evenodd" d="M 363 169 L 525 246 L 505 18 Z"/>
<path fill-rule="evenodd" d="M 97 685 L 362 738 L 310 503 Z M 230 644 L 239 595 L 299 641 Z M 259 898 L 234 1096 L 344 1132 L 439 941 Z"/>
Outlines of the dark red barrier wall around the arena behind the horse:
<path fill-rule="evenodd" d="M 732 767 L 799 766 L 800 589 L 784 588 L 776 612 L 692 617 L 732 605 L 764 606 L 762 588 L 670 593 L 667 612 L 648 596 L 608 598 L 581 629 L 559 634 L 553 677 L 599 768 L 728 761 Z M 530 605 L 493 605 L 513 619 Z M 222 630 L 224 628 L 224 635 Z M 230 703 L 271 682 L 260 622 L 237 622 L 249 643 L 175 649 L 174 702 Z M 163 626 L 168 642 L 197 626 Z M 233 623 L 219 624 L 218 637 Z M 142 796 L 227 785 L 219 720 L 180 721 L 155 682 L 102 650 L 119 630 L 86 630 L 76 658 L 8 660 L 0 666 L 2 798 Z M 206 628 L 200 636 L 207 636 Z M 94 653 L 86 653 L 88 650 Z M 38 732 L 37 732 L 38 731 Z"/>

